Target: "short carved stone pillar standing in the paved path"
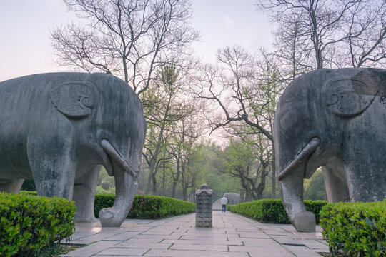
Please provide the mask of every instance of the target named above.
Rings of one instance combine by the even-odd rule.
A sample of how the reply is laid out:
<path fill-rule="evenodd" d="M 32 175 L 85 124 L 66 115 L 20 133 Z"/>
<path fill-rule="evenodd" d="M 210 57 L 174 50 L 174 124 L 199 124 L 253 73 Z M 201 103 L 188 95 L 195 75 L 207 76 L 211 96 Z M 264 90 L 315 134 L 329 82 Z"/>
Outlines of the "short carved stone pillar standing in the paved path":
<path fill-rule="evenodd" d="M 196 190 L 196 228 L 212 228 L 212 190 L 206 184 Z"/>

